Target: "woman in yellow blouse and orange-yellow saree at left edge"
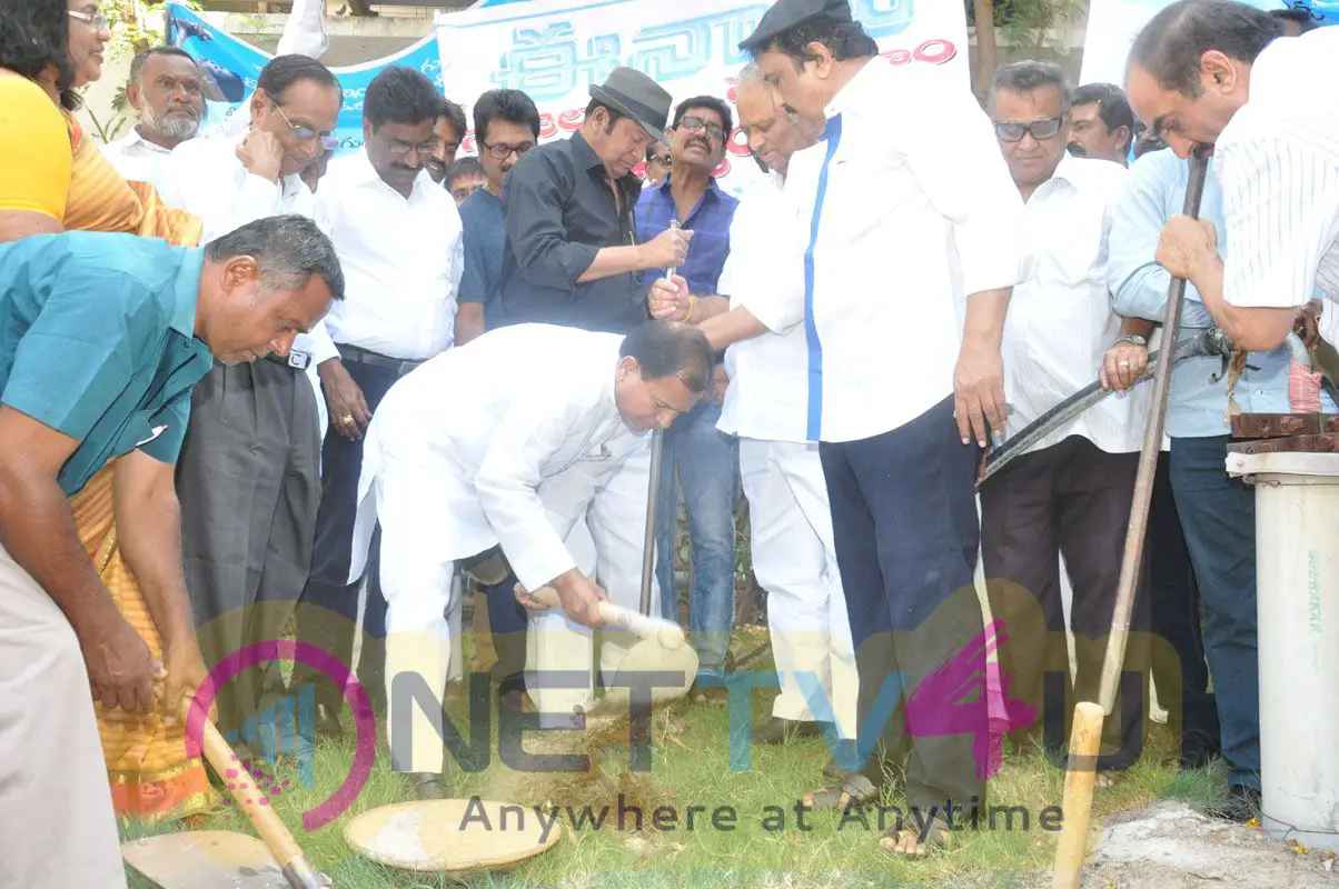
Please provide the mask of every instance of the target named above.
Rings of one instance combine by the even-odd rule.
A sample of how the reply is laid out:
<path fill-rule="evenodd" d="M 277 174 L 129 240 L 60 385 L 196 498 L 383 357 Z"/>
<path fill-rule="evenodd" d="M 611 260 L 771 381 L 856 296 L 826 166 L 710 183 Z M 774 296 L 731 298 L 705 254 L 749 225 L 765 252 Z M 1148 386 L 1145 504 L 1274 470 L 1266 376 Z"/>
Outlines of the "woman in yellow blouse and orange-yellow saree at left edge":
<path fill-rule="evenodd" d="M 35 7 L 64 11 L 68 19 L 68 64 L 59 66 L 66 68 L 64 72 L 55 64 L 47 64 L 46 70 L 33 75 L 24 70 L 31 70 L 32 59 L 11 60 L 0 55 L 0 170 L 8 170 L 0 173 L 0 216 L 4 217 L 0 240 L 59 230 L 59 225 L 42 221 L 59 214 L 66 230 L 123 232 L 161 237 L 182 246 L 197 245 L 200 220 L 167 209 L 153 186 L 126 182 L 70 112 L 74 102 L 68 90 L 62 87 L 79 87 L 102 74 L 102 51 L 110 33 L 96 0 L 21 0 L 21 5 L 28 8 L 0 3 L 0 16 L 55 13 L 54 9 Z M 4 50 L 0 47 L 0 52 Z M 20 78 L 19 74 L 27 76 Z M 32 90 L 32 83 L 44 95 Z M 66 146 L 48 145 L 52 142 L 51 127 L 46 126 L 50 104 L 33 104 L 52 100 L 64 116 Z M 174 640 L 174 651 L 165 651 L 159 628 L 122 558 L 112 517 L 114 473 L 115 462 L 103 467 L 71 498 L 79 537 L 126 621 L 141 635 L 154 657 L 159 661 L 166 657 L 165 663 L 173 671 L 189 673 L 190 687 L 194 687 L 204 677 L 195 640 Z M 107 708 L 98 702 L 94 704 L 116 814 L 158 822 L 212 810 L 217 794 L 202 762 L 186 756 L 183 720 L 174 719 L 173 724 L 167 724 L 161 699 L 155 707 L 154 714 L 139 715 Z"/>

